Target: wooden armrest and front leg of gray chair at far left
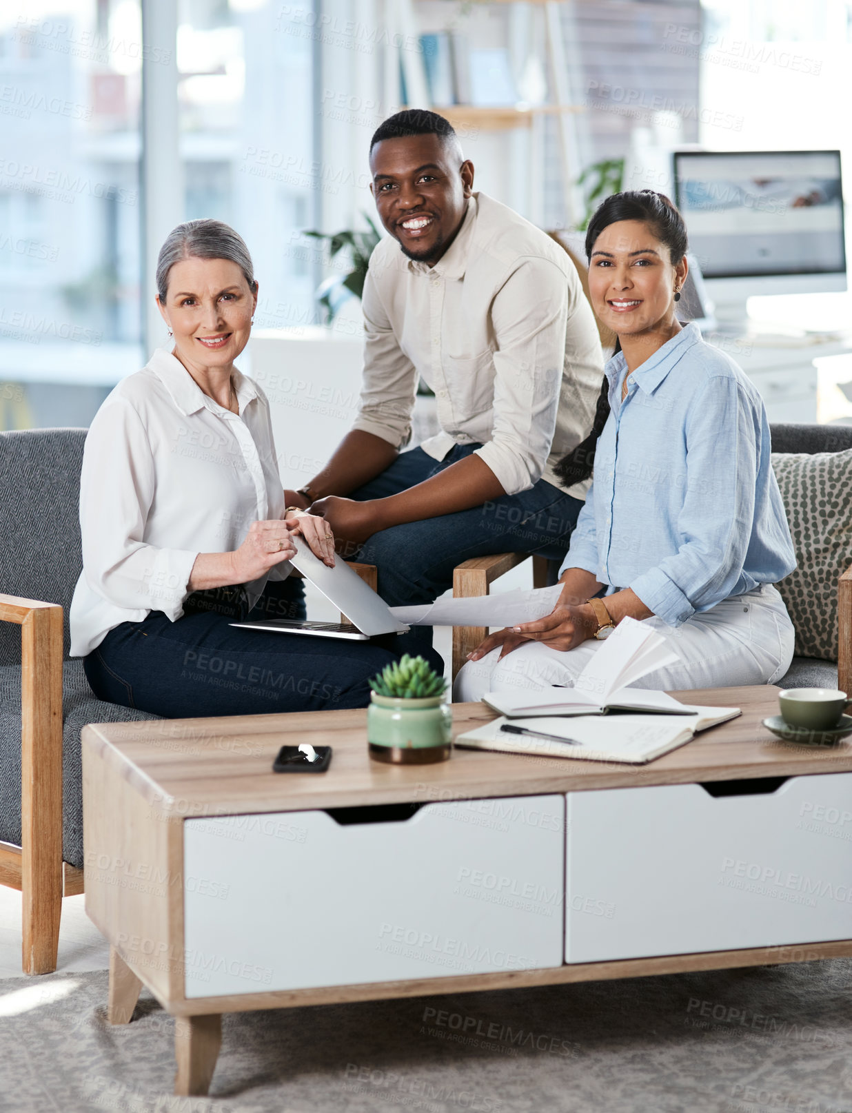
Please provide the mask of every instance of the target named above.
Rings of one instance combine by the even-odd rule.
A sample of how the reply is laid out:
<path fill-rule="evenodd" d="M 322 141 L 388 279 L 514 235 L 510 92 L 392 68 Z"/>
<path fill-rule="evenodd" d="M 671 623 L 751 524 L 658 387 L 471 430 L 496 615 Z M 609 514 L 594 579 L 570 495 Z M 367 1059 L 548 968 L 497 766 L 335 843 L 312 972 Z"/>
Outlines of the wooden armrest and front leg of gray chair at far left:
<path fill-rule="evenodd" d="M 56 968 L 62 897 L 63 614 L 57 603 L 0 594 L 0 621 L 21 628 L 23 969 L 41 974 Z"/>

